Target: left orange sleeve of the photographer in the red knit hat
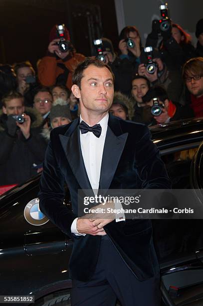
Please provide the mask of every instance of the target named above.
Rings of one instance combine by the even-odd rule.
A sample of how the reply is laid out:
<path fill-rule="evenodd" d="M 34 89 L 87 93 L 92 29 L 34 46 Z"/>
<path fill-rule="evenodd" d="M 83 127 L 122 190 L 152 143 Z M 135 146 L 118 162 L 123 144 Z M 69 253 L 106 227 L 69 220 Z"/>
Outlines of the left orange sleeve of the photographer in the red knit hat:
<path fill-rule="evenodd" d="M 52 86 L 56 82 L 56 57 L 44 56 L 38 65 L 38 78 L 43 86 Z"/>

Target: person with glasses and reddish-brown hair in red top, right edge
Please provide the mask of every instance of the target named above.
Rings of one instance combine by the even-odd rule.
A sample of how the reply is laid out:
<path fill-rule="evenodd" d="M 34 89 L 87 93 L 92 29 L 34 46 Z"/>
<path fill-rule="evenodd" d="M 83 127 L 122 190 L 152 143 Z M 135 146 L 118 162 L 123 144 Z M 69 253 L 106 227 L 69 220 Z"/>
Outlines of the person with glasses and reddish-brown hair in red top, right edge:
<path fill-rule="evenodd" d="M 189 103 L 195 117 L 203 116 L 203 57 L 188 60 L 183 67 L 183 78 L 190 92 Z"/>

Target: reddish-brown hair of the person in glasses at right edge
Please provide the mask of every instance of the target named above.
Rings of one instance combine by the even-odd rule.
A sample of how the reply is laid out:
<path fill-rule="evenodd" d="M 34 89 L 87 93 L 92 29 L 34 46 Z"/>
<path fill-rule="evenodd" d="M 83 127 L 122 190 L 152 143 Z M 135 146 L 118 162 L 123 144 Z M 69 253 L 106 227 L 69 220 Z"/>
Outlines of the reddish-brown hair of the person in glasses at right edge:
<path fill-rule="evenodd" d="M 194 74 L 203 76 L 203 57 L 189 59 L 183 66 L 183 78 Z"/>

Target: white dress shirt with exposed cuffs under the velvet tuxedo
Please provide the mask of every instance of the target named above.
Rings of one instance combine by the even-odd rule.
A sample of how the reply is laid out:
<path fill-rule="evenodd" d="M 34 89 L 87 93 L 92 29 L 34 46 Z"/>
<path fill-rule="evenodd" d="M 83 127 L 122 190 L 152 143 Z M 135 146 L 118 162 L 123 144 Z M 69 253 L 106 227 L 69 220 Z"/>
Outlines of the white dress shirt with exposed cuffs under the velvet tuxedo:
<path fill-rule="evenodd" d="M 85 164 L 85 169 L 87 175 L 96 195 L 99 189 L 99 179 L 102 163 L 102 155 L 104 150 L 104 142 L 106 138 L 106 131 L 108 127 L 109 113 L 106 114 L 97 124 L 101 125 L 102 131 L 100 137 L 96 137 L 93 132 L 88 131 L 87 133 L 82 134 L 80 131 L 80 145 L 82 150 L 82 157 Z M 82 117 L 80 115 L 80 122 Z M 86 123 L 86 122 L 85 122 Z M 120 205 L 119 205 L 120 204 Z M 121 208 L 121 203 L 116 203 L 116 207 Z M 116 221 L 125 220 L 125 215 L 122 214 L 123 218 L 116 218 Z M 121 217 L 121 214 L 119 214 Z M 76 222 L 78 218 L 75 218 L 71 225 L 71 232 L 74 234 L 79 234 L 76 228 Z M 85 234 L 82 234 L 85 235 Z"/>

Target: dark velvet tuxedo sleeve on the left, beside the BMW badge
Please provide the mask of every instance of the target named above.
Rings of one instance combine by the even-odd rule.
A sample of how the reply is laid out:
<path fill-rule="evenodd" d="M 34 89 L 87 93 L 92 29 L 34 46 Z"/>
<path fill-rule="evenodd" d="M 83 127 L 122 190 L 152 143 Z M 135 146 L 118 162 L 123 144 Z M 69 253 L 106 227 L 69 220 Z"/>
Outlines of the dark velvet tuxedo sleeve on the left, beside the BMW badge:
<path fill-rule="evenodd" d="M 53 224 L 71 237 L 71 224 L 77 216 L 63 204 L 64 182 L 52 142 L 49 141 L 39 184 L 39 207 Z"/>

